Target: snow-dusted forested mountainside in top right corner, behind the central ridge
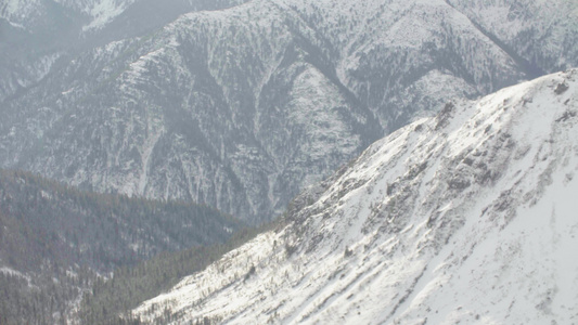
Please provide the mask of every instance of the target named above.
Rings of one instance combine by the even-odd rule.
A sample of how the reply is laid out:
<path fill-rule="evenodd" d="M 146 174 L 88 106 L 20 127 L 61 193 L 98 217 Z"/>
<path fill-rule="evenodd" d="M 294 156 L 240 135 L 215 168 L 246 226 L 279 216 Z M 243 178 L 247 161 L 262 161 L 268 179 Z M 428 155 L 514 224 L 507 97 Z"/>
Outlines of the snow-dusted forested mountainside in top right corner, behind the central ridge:
<path fill-rule="evenodd" d="M 578 2 L 448 0 L 528 72 L 576 66 Z M 561 55 L 561 53 L 564 53 Z"/>

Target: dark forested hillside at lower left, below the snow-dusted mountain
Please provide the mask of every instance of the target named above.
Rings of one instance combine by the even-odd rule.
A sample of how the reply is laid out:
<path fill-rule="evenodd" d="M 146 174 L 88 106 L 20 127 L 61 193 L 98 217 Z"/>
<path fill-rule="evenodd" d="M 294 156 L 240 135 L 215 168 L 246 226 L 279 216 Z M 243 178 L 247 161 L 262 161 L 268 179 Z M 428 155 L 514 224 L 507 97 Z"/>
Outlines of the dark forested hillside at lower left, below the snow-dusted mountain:
<path fill-rule="evenodd" d="M 1 170 L 0 323 L 66 320 L 82 291 L 116 268 L 224 243 L 241 226 L 206 206 L 87 193 Z"/>

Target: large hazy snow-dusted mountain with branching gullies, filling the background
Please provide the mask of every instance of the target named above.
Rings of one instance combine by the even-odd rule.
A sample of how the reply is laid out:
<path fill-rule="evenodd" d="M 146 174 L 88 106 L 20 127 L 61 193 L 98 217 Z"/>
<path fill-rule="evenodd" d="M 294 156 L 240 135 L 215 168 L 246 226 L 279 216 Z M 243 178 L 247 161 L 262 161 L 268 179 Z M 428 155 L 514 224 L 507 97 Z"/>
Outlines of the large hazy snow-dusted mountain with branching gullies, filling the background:
<path fill-rule="evenodd" d="M 143 1 L 123 2 L 118 17 Z M 556 29 L 563 37 L 524 31 L 565 13 L 527 5 L 511 23 L 563 49 L 548 63 L 550 50 L 480 28 L 475 5 L 261 0 L 191 12 L 146 35 L 107 34 L 120 24 L 111 18 L 78 51 L 48 56 L 34 82 L 3 79 L 1 166 L 271 219 L 304 186 L 449 99 L 578 64 L 576 26 Z"/>

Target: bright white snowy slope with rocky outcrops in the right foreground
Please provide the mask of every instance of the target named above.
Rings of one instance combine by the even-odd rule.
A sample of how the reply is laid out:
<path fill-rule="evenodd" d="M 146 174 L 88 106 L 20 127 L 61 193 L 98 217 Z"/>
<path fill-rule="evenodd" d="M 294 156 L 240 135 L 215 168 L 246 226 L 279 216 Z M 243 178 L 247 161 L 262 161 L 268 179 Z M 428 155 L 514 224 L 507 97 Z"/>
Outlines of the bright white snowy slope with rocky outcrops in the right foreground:
<path fill-rule="evenodd" d="M 578 70 L 448 103 L 133 312 L 180 324 L 577 324 Z M 170 315 L 170 317 L 164 317 Z"/>

